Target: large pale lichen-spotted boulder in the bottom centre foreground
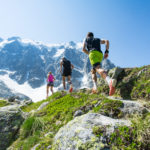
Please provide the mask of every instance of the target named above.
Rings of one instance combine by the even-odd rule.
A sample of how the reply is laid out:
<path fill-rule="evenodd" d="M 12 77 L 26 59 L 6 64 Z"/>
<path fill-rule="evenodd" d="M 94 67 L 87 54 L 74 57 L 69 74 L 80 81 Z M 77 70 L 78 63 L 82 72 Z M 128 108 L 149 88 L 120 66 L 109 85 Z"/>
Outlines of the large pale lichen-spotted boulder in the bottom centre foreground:
<path fill-rule="evenodd" d="M 112 119 L 97 113 L 88 113 L 76 117 L 66 126 L 62 127 L 55 136 L 54 147 L 59 150 L 79 150 L 91 145 L 94 150 L 105 147 L 106 140 L 117 125 L 129 125 L 126 120 Z M 101 138 L 93 134 L 93 127 L 106 128 Z"/>

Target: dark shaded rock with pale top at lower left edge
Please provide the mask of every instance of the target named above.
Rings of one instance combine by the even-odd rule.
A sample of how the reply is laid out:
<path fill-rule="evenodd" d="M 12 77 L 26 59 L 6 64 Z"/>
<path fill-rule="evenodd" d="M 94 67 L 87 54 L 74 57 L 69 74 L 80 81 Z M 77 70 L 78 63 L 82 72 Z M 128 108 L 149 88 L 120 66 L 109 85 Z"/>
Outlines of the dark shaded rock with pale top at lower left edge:
<path fill-rule="evenodd" d="M 0 108 L 0 149 L 6 148 L 16 139 L 17 132 L 23 122 L 18 105 Z"/>

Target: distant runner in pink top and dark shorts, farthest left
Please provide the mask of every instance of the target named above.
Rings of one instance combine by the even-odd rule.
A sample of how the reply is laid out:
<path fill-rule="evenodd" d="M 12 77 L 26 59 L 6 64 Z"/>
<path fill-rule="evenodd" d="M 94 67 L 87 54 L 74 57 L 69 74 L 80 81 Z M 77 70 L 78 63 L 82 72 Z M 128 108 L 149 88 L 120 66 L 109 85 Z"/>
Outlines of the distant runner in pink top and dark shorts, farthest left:
<path fill-rule="evenodd" d="M 51 88 L 51 92 L 53 94 L 54 80 L 55 80 L 54 76 L 52 75 L 51 72 L 49 72 L 47 76 L 47 97 L 46 98 L 48 98 L 49 88 Z"/>

